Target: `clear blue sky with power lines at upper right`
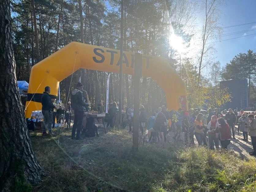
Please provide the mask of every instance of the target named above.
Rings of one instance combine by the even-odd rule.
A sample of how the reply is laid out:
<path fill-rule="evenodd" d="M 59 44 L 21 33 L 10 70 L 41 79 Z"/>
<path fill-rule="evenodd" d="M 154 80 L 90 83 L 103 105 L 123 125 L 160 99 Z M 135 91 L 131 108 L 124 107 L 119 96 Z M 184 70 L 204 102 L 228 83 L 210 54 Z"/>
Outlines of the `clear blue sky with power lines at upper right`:
<path fill-rule="evenodd" d="M 226 5 L 220 7 L 222 16 L 220 22 L 225 26 L 232 26 L 256 21 L 256 0 L 228 0 Z M 253 29 L 253 31 L 222 37 L 222 40 L 241 37 L 256 33 L 256 23 L 231 28 L 224 28 L 223 34 Z M 217 41 L 217 40 L 216 40 Z M 256 34 L 233 40 L 216 43 L 216 60 L 224 66 L 237 54 L 247 50 L 256 51 Z"/>

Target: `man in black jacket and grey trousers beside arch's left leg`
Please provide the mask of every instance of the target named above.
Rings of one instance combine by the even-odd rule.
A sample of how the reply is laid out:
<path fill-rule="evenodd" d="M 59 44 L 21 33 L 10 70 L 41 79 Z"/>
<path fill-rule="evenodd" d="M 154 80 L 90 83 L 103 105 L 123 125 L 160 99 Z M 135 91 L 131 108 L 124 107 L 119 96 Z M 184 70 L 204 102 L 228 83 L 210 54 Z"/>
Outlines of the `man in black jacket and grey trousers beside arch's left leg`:
<path fill-rule="evenodd" d="M 41 97 L 41 103 L 42 103 L 42 113 L 43 113 L 43 136 L 46 136 L 46 129 L 48 129 L 49 134 L 55 135 L 51 131 L 52 127 L 52 111 L 53 108 L 56 108 L 54 104 L 52 104 L 50 94 L 51 93 L 51 88 L 49 86 L 44 88 L 43 95 Z"/>

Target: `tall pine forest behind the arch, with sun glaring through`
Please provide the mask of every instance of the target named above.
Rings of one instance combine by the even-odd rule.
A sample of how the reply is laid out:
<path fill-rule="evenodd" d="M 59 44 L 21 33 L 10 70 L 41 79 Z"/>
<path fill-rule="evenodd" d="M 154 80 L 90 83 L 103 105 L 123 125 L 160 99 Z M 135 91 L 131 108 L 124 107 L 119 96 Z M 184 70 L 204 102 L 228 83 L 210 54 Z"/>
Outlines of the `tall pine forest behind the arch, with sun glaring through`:
<path fill-rule="evenodd" d="M 17 80 L 29 82 L 33 65 L 72 41 L 120 49 L 120 2 L 13 0 Z M 224 3 L 223 0 L 125 0 L 123 50 L 165 58 L 187 85 L 189 108 L 221 107 L 230 101 L 228 90 L 220 90 L 219 82 L 237 73 L 247 74 L 250 102 L 256 101 L 256 54 L 251 50 L 239 53 L 222 69 L 212 56 L 217 51 L 214 41 L 225 35 L 218 9 Z M 59 73 L 62 70 L 65 66 Z M 60 82 L 61 100 L 65 103 L 70 100 L 66 98 L 69 86 L 72 91 L 81 77 L 91 106 L 96 109 L 100 101 L 105 103 L 107 76 L 107 72 L 101 71 L 76 71 L 72 82 L 71 76 Z M 134 78 L 125 74 L 122 82 L 123 104 L 129 107 L 134 99 Z M 165 93 L 154 79 L 142 77 L 140 90 L 140 103 L 147 109 L 166 103 Z M 109 100 L 119 100 L 117 73 L 110 76 Z"/>

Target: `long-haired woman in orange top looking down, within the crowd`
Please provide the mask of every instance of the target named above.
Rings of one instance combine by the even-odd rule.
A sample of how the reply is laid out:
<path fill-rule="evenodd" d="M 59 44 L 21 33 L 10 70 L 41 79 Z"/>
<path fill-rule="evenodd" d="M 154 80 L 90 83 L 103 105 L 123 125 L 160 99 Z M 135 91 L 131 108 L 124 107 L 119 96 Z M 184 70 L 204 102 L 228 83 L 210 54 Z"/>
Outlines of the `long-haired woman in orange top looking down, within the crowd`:
<path fill-rule="evenodd" d="M 207 146 L 206 136 L 204 133 L 205 126 L 203 125 L 202 119 L 203 119 L 203 114 L 198 113 L 196 120 L 194 122 L 194 127 L 195 127 L 194 133 L 198 142 L 198 146 L 202 145 L 203 142 L 204 142 L 204 145 Z"/>

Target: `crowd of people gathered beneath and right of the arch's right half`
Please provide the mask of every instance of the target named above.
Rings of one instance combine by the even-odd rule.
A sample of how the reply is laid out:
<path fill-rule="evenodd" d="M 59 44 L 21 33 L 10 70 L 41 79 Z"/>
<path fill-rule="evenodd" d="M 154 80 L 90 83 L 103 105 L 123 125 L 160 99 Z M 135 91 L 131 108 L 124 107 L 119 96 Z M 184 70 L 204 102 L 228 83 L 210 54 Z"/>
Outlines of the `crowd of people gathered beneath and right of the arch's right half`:
<path fill-rule="evenodd" d="M 174 140 L 184 133 L 184 144 L 195 145 L 194 136 L 198 145 L 209 146 L 210 149 L 227 149 L 232 139 L 235 138 L 235 125 L 238 125 L 239 132 L 243 133 L 243 141 L 248 141 L 248 135 L 251 137 L 253 151 L 250 155 L 256 155 L 256 116 L 255 112 L 244 113 L 243 110 L 237 112 L 235 109 L 223 110 L 219 112 L 217 108 L 214 110 L 209 108 L 207 111 L 198 109 L 190 109 L 189 111 L 168 111 L 163 105 L 152 111 L 148 120 L 145 116 L 145 108 L 140 108 L 140 128 L 144 133 L 143 128 L 147 124 L 149 142 L 152 138 L 152 133 L 159 135 L 159 141 L 166 141 L 168 130 L 174 132 Z M 127 119 L 129 130 L 132 131 L 132 122 L 134 117 L 134 105 L 131 105 L 127 110 Z M 171 127 L 169 127 L 171 120 Z"/>

